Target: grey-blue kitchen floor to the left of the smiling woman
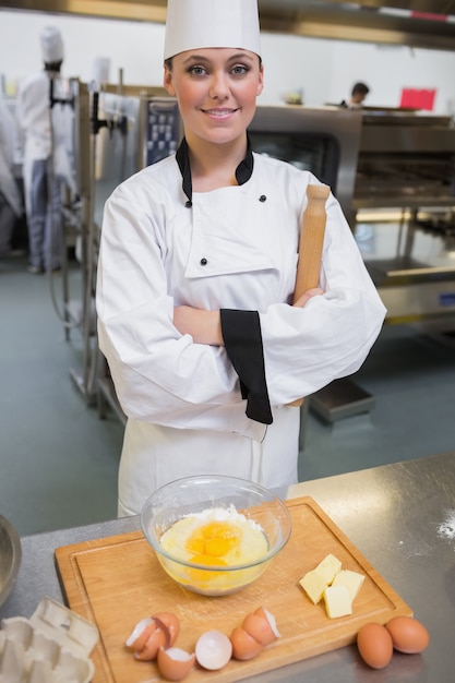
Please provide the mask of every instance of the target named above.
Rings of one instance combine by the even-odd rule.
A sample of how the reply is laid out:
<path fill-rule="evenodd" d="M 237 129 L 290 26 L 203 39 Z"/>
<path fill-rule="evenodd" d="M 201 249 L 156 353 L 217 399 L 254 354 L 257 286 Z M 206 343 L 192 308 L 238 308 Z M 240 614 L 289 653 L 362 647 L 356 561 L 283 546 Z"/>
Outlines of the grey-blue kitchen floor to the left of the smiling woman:
<path fill-rule="evenodd" d="M 51 284 L 61 304 L 60 276 L 0 265 L 0 514 L 22 535 L 117 514 L 122 428 L 99 420 L 70 379 L 82 336 L 65 340 Z"/>

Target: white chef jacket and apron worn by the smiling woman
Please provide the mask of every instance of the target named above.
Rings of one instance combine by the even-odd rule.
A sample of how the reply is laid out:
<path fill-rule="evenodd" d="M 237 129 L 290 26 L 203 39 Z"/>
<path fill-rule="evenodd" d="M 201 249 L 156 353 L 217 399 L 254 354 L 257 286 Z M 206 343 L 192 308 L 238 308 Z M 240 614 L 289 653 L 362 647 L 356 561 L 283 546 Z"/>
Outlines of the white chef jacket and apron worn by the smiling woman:
<path fill-rule="evenodd" d="M 176 156 L 106 203 L 97 279 L 99 346 L 128 416 L 119 514 L 159 486 L 229 474 L 266 487 L 297 480 L 300 411 L 287 404 L 356 372 L 385 309 L 337 200 L 326 203 L 323 296 L 292 308 L 308 171 L 258 154 L 242 184 L 182 190 Z M 225 347 L 195 344 L 175 305 L 258 311 L 273 422 L 246 415 Z"/>

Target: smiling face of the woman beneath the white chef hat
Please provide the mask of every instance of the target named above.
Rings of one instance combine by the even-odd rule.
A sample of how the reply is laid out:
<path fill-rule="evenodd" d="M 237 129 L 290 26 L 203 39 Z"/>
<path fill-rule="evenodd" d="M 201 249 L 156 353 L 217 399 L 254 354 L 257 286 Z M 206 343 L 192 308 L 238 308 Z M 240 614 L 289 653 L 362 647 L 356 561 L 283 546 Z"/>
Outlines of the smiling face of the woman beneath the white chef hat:
<path fill-rule="evenodd" d="M 243 139 L 263 88 L 254 52 L 231 48 L 188 50 L 165 67 L 164 85 L 177 97 L 189 144 L 225 144 Z"/>

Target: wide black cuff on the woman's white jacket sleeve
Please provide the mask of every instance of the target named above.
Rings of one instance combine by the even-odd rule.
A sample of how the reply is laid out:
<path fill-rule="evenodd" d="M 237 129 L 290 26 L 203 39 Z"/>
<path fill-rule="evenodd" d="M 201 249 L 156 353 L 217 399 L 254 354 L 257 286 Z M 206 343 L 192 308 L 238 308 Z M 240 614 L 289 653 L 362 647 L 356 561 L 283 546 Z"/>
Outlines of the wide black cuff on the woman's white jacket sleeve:
<path fill-rule="evenodd" d="M 242 398 L 247 398 L 247 416 L 272 424 L 259 313 L 221 309 L 219 314 L 226 352 L 239 375 Z"/>

